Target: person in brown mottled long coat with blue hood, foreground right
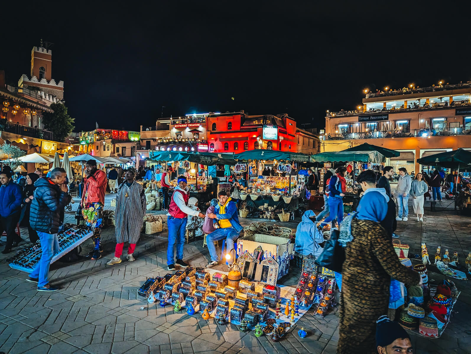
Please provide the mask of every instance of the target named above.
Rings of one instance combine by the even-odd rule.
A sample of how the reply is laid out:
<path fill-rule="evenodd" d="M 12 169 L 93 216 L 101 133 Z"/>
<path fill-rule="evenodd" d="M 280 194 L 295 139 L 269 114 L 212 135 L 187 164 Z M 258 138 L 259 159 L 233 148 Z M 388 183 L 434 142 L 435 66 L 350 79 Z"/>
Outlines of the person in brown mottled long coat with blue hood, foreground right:
<path fill-rule="evenodd" d="M 376 174 L 366 170 L 357 181 L 365 193 L 358 212 L 341 224 L 339 236 L 339 242 L 345 245 L 345 261 L 338 354 L 376 353 L 376 320 L 388 311 L 391 277 L 410 285 L 422 280 L 417 272 L 401 264 L 380 225 L 389 197 L 375 188 Z"/>

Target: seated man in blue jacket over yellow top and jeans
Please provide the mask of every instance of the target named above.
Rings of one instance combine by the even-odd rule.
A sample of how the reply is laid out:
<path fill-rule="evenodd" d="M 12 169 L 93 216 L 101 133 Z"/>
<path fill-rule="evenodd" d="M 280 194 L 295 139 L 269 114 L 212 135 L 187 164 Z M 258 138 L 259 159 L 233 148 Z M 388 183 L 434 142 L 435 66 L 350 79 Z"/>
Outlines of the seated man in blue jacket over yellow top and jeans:
<path fill-rule="evenodd" d="M 211 261 L 206 267 L 211 268 L 218 264 L 218 254 L 216 253 L 216 247 L 214 241 L 222 240 L 226 238 L 227 253 L 234 249 L 235 239 L 239 236 L 243 227 L 239 224 L 239 217 L 237 215 L 237 206 L 227 197 L 227 193 L 220 191 L 218 194 L 219 203 L 214 208 L 214 214 L 208 214 L 211 219 L 216 219 L 219 224 L 219 228 L 216 231 L 211 232 L 206 236 L 206 244 L 208 245 L 209 254 Z"/>

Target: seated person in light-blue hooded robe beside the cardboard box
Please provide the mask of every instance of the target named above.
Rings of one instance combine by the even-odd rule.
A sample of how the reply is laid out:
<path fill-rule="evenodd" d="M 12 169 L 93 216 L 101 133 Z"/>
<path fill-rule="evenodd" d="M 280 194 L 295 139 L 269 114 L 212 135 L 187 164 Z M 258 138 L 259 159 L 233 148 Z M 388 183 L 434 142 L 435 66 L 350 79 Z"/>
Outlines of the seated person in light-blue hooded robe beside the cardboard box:
<path fill-rule="evenodd" d="M 324 236 L 313 221 L 315 218 L 316 214 L 312 210 L 307 210 L 302 216 L 301 222 L 296 228 L 296 243 L 294 245 L 294 251 L 303 256 L 313 254 L 314 257 L 317 258 L 323 251 L 320 244 L 325 240 Z"/>

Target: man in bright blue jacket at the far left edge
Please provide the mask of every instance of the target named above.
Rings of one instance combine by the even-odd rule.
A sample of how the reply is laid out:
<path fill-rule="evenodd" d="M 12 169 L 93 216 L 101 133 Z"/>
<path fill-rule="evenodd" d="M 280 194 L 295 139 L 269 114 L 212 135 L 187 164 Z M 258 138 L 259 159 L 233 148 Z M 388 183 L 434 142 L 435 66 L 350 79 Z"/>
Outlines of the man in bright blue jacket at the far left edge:
<path fill-rule="evenodd" d="M 7 232 L 7 244 L 2 253 L 11 252 L 13 246 L 23 241 L 15 233 L 16 224 L 20 220 L 21 187 L 11 180 L 11 172 L 4 170 L 0 173 L 0 235 Z M 15 244 L 13 241 L 15 240 Z"/>

